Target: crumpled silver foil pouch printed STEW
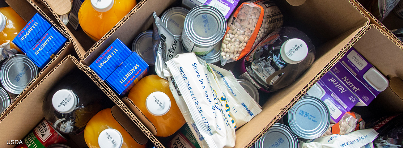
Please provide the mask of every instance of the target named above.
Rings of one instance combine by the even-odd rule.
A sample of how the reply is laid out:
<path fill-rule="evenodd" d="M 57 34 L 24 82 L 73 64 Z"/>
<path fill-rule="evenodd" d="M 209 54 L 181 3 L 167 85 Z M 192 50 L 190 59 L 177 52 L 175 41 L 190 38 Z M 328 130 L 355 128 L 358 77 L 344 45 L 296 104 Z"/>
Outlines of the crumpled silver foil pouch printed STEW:
<path fill-rule="evenodd" d="M 165 27 L 157 14 L 153 13 L 155 22 L 153 26 L 152 43 L 154 55 L 156 55 L 155 72 L 158 76 L 164 77 L 163 70 L 166 68 L 165 62 L 182 53 L 182 42 Z"/>

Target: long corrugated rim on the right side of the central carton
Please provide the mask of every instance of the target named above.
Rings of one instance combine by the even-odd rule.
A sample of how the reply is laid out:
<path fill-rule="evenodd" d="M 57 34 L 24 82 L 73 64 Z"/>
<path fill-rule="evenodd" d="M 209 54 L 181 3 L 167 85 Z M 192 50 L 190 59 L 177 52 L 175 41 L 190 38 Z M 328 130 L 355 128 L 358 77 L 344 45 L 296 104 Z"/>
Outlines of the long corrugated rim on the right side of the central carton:
<path fill-rule="evenodd" d="M 357 2 L 356 0 L 349 0 L 349 2 L 357 9 L 357 11 L 359 11 L 359 13 L 361 13 L 361 15 L 363 15 L 364 17 L 368 18 L 365 13 L 363 13 L 358 6 L 356 6 L 354 4 L 354 2 Z M 369 20 L 369 19 L 368 19 Z M 330 68 L 332 68 L 334 66 L 335 63 L 337 63 L 337 61 L 340 60 L 341 57 L 344 56 L 344 54 L 347 53 L 347 51 L 359 40 L 359 38 L 361 38 L 364 33 L 366 31 L 368 31 L 369 28 L 369 24 L 370 21 L 368 21 L 363 27 L 360 27 L 360 31 L 358 31 L 356 33 L 356 35 L 344 46 L 343 49 L 341 49 L 341 51 L 333 57 L 333 59 L 324 67 L 324 69 L 322 69 L 315 77 L 314 79 L 312 79 L 307 85 L 305 85 L 305 87 L 297 94 L 297 96 L 295 96 L 293 98 L 293 100 L 291 102 L 289 102 L 289 104 L 287 106 L 285 106 L 285 108 L 282 108 L 281 113 L 278 114 L 276 117 L 274 117 L 274 119 L 258 134 L 255 136 L 255 138 L 253 138 L 253 140 L 251 142 L 249 142 L 249 144 L 247 144 L 247 146 L 245 146 L 245 148 L 250 148 L 251 146 L 253 146 L 253 144 L 259 140 L 264 133 L 266 133 L 275 123 L 277 123 L 281 117 L 283 117 L 288 110 L 296 103 L 298 102 L 298 100 L 304 95 L 306 94 L 306 92 L 312 87 L 312 85 L 314 85 L 326 72 L 328 72 L 330 70 Z"/>

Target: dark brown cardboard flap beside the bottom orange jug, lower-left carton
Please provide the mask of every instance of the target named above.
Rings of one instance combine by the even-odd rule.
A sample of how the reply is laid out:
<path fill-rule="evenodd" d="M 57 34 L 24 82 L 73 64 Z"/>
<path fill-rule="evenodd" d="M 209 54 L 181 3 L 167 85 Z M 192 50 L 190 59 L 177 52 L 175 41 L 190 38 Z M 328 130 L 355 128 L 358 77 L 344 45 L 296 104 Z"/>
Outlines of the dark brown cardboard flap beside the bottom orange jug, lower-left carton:
<path fill-rule="evenodd" d="M 135 123 L 116 105 L 112 107 L 112 116 L 138 144 L 147 143 L 148 138 L 143 134 L 143 131 L 139 127 L 133 126 Z"/>

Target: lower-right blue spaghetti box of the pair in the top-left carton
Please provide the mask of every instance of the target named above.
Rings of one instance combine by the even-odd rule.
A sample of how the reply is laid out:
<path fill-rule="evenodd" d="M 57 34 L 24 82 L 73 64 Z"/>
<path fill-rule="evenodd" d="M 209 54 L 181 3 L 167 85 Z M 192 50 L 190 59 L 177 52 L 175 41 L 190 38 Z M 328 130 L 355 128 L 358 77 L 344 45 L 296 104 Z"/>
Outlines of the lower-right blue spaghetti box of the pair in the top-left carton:
<path fill-rule="evenodd" d="M 39 68 L 43 69 L 60 49 L 63 48 L 66 40 L 54 27 L 50 27 L 38 42 L 27 51 L 27 56 Z"/>

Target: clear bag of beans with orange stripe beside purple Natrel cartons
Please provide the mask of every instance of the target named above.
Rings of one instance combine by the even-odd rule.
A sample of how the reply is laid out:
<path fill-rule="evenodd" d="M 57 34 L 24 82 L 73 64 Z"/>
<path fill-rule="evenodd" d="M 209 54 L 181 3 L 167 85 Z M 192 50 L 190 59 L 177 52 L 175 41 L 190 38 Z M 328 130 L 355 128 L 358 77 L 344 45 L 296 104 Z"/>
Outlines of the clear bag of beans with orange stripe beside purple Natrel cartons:
<path fill-rule="evenodd" d="M 364 127 L 365 121 L 362 120 L 361 115 L 354 112 L 347 112 L 338 123 L 330 124 L 322 137 L 332 134 L 345 135 L 353 131 L 364 129 Z"/>

